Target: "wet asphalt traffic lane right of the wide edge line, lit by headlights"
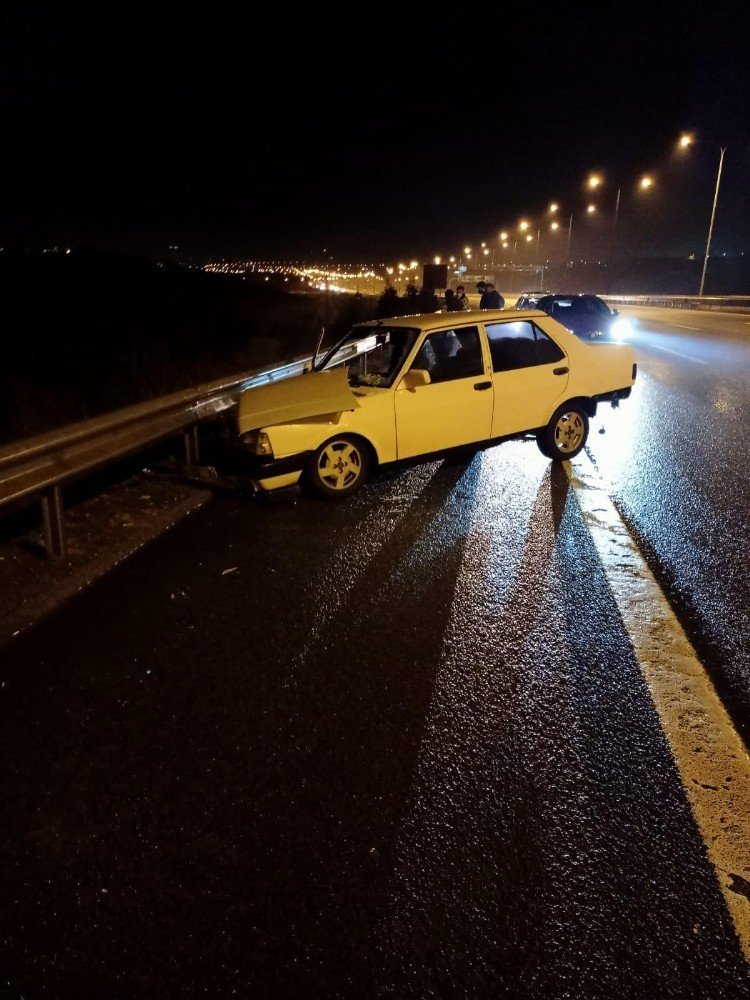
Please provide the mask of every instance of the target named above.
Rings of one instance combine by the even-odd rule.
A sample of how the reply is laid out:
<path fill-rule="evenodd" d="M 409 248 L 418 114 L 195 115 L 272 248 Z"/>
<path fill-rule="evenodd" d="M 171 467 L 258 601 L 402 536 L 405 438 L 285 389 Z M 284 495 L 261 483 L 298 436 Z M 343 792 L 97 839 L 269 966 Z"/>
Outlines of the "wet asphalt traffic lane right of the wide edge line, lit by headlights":
<path fill-rule="evenodd" d="M 590 452 L 750 745 L 750 314 L 623 312 L 636 396 Z"/>

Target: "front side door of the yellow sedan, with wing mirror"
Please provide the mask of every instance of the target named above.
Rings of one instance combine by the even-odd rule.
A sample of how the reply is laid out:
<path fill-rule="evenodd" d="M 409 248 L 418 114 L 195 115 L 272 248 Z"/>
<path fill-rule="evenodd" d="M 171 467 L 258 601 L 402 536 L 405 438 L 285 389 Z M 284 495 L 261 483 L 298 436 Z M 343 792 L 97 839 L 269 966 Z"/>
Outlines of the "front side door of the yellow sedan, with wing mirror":
<path fill-rule="evenodd" d="M 430 382 L 395 392 L 399 458 L 425 455 L 473 441 L 492 428 L 492 379 L 486 370 L 477 326 L 436 330 L 422 342 L 410 370 Z"/>

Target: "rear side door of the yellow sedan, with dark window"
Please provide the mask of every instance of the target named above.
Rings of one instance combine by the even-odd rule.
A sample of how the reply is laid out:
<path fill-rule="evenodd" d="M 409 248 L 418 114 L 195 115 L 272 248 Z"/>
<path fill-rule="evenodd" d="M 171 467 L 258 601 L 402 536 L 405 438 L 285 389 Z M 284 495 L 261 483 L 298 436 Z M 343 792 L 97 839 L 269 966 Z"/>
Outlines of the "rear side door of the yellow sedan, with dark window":
<path fill-rule="evenodd" d="M 542 427 L 568 384 L 568 359 L 531 321 L 486 323 L 495 408 L 492 436 Z"/>

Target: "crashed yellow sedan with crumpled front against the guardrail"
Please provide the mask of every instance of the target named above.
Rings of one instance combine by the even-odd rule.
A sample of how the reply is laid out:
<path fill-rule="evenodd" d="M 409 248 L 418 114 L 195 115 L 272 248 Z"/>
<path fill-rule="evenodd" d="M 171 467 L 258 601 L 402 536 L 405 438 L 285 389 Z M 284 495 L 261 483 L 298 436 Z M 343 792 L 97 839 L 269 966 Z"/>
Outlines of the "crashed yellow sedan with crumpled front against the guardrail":
<path fill-rule="evenodd" d="M 378 466 L 533 433 L 559 461 L 598 403 L 627 398 L 626 344 L 587 344 L 542 312 L 427 313 L 355 326 L 311 367 L 240 396 L 237 443 L 262 489 L 353 493 Z"/>

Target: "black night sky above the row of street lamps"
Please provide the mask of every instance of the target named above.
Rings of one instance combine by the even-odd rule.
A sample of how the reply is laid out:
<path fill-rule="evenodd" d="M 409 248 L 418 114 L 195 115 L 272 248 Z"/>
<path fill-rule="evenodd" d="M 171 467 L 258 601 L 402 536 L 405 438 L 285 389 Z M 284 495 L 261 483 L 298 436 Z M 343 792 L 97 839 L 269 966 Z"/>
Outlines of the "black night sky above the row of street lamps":
<path fill-rule="evenodd" d="M 631 244 L 682 253 L 705 238 L 721 143 L 716 238 L 750 252 L 740 5 L 156 7 L 3 13 L 6 243 L 426 257 L 552 198 L 573 210 L 599 168 Z"/>

